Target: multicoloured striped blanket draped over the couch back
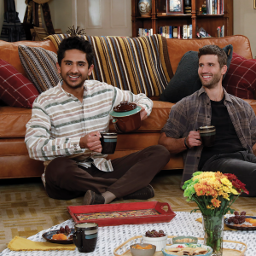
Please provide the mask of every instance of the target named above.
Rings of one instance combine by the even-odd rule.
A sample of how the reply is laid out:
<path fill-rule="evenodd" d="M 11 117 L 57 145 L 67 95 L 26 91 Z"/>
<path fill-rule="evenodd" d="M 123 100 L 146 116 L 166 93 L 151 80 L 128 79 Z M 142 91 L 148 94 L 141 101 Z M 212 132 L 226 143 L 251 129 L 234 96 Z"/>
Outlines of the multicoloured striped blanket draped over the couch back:
<path fill-rule="evenodd" d="M 56 48 L 67 34 L 51 35 Z M 81 36 L 92 44 L 95 56 L 92 78 L 134 94 L 160 96 L 172 78 L 166 38 Z"/>

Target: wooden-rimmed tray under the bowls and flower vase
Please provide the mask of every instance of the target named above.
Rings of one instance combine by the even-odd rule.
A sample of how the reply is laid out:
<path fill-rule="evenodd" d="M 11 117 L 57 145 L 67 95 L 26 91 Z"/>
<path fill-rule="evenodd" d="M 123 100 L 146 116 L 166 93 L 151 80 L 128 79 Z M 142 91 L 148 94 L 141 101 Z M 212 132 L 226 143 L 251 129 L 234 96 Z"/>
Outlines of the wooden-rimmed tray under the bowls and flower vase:
<path fill-rule="evenodd" d="M 168 239 L 170 241 L 172 241 L 173 237 L 176 237 L 176 236 L 168 236 Z M 121 245 L 119 245 L 119 247 L 116 247 L 113 250 L 113 255 L 115 255 L 115 256 L 131 256 L 130 245 L 137 243 L 137 242 L 142 242 L 142 238 L 143 238 L 143 236 L 131 237 L 130 239 L 126 240 Z M 198 237 L 198 240 L 204 240 L 204 239 L 201 237 Z M 235 248 L 234 249 L 224 248 L 223 256 L 243 256 L 247 250 L 247 244 L 244 242 L 230 241 L 230 240 L 224 240 L 224 242 L 232 243 L 232 245 L 234 245 Z M 167 244 L 167 246 L 168 245 L 171 245 L 171 244 Z M 154 256 L 164 256 L 164 254 L 161 251 L 157 251 L 154 253 Z"/>

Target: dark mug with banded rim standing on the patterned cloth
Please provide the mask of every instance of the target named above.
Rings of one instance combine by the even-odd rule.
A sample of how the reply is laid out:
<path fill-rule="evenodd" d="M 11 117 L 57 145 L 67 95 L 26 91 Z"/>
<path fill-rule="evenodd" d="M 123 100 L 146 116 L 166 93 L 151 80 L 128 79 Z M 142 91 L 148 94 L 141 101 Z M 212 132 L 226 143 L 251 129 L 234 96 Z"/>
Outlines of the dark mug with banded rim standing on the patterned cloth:
<path fill-rule="evenodd" d="M 90 253 L 96 248 L 98 224 L 83 223 L 74 225 L 73 243 L 80 253 Z"/>

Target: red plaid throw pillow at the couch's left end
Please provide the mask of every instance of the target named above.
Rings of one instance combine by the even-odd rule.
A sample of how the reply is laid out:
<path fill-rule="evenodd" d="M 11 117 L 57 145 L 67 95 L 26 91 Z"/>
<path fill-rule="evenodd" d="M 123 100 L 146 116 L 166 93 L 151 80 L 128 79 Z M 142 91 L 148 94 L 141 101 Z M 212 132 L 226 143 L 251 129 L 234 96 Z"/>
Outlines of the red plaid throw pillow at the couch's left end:
<path fill-rule="evenodd" d="M 15 67 L 0 59 L 0 100 L 17 108 L 32 108 L 38 90 Z"/>

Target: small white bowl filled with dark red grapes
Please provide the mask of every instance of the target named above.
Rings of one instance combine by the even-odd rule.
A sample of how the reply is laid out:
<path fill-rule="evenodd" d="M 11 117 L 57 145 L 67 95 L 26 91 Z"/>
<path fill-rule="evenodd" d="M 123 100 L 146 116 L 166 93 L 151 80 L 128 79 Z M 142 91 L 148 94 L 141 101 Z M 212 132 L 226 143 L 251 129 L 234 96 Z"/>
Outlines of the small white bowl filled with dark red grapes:
<path fill-rule="evenodd" d="M 143 242 L 153 244 L 156 246 L 156 251 L 161 251 L 163 247 L 166 247 L 167 235 L 163 230 L 148 230 L 146 234 L 143 235 Z"/>

